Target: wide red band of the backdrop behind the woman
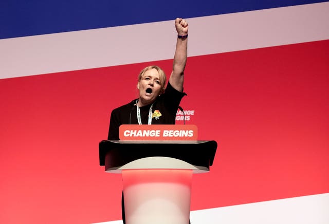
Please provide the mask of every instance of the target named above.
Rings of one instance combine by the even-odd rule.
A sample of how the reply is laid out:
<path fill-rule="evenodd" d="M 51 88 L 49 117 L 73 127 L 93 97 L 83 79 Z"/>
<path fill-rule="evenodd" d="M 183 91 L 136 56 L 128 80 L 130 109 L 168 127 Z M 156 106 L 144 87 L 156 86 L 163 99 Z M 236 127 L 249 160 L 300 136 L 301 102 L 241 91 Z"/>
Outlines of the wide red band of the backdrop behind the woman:
<path fill-rule="evenodd" d="M 319 41 L 188 59 L 187 123 L 218 142 L 191 210 L 328 192 L 328 52 Z M 166 60 L 1 80 L 0 220 L 121 218 L 121 176 L 99 166 L 98 142 L 150 64 L 171 72 Z"/>

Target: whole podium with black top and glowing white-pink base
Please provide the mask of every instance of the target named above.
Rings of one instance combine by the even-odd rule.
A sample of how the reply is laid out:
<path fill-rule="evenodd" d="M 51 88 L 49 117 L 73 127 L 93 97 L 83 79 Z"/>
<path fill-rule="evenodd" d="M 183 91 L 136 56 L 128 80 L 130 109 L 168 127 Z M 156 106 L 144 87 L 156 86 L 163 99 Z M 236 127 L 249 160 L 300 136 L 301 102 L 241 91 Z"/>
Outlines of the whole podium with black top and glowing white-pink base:
<path fill-rule="evenodd" d="M 105 172 L 122 174 L 126 224 L 188 224 L 194 173 L 209 172 L 215 141 L 99 143 Z"/>

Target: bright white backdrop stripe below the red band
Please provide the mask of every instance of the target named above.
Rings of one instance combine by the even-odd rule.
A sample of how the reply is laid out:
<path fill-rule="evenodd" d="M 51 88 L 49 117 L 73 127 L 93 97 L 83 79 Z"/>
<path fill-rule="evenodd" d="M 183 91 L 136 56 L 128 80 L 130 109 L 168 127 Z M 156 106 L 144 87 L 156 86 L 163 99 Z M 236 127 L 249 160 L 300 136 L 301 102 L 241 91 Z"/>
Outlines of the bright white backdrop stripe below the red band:
<path fill-rule="evenodd" d="M 192 211 L 190 218 L 193 224 L 327 224 L 328 211 L 329 193 Z"/>

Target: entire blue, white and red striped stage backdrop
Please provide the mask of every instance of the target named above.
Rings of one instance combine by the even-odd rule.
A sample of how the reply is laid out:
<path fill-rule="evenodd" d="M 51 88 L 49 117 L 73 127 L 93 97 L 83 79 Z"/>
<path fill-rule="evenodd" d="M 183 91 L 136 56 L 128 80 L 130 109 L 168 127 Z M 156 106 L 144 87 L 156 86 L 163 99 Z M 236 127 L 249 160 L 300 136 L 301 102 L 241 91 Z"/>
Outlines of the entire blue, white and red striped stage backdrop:
<path fill-rule="evenodd" d="M 98 143 L 143 67 L 169 76 L 176 17 L 186 123 L 218 143 L 191 222 L 329 223 L 329 2 L 310 0 L 2 1 L 1 223 L 120 222 Z"/>

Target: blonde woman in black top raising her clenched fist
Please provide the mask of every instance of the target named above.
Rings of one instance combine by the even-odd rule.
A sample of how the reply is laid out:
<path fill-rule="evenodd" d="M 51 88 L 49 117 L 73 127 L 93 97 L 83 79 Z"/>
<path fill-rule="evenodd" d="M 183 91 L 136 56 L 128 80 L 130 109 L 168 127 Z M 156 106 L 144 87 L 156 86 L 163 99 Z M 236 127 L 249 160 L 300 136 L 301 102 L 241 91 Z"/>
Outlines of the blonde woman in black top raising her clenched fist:
<path fill-rule="evenodd" d="M 176 18 L 176 50 L 167 87 L 166 74 L 158 66 L 148 66 L 138 76 L 139 98 L 114 109 L 109 122 L 108 140 L 119 140 L 121 124 L 175 124 L 183 91 L 184 70 L 187 61 L 188 23 Z M 122 220 L 125 223 L 122 193 Z"/>

